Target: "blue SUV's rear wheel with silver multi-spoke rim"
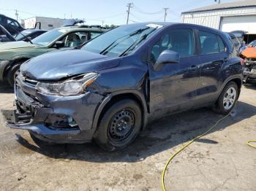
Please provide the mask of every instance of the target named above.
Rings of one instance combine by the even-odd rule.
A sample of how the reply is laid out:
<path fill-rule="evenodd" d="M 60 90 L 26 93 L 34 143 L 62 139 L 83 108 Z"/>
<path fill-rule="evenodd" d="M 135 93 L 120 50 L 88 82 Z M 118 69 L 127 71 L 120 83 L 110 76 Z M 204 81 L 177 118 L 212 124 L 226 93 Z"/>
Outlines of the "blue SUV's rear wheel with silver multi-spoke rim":
<path fill-rule="evenodd" d="M 236 82 L 228 82 L 219 95 L 214 111 L 219 114 L 229 114 L 238 100 L 238 86 Z"/>

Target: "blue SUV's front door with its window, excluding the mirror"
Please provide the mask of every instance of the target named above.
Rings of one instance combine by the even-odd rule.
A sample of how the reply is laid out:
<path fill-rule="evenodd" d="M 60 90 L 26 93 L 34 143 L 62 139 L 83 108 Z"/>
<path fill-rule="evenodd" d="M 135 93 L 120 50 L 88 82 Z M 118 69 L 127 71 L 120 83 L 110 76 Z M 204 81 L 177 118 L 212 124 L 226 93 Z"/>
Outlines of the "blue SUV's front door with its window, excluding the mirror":
<path fill-rule="evenodd" d="M 165 64 L 159 71 L 154 63 L 164 50 L 180 55 L 179 63 Z M 197 95 L 199 58 L 195 54 L 195 34 L 192 28 L 170 28 L 159 35 L 150 47 L 150 109 L 151 112 L 174 112 L 189 109 Z"/>

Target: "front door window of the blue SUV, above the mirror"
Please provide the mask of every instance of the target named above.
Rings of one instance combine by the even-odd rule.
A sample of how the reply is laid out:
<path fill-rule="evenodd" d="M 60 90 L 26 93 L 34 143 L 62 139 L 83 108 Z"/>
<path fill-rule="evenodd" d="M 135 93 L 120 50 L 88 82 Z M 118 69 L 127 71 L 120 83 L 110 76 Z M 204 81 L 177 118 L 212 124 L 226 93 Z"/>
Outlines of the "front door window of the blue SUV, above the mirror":
<path fill-rule="evenodd" d="M 194 55 L 194 35 L 191 29 L 175 29 L 153 45 L 151 49 L 151 63 L 156 63 L 159 55 L 165 50 L 178 52 L 180 58 Z"/>

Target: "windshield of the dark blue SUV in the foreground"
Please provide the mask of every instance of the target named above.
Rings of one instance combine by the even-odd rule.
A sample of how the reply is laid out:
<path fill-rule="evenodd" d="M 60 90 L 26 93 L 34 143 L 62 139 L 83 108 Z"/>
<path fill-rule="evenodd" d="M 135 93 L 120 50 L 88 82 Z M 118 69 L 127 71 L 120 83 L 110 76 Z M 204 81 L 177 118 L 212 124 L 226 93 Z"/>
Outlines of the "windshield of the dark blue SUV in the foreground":
<path fill-rule="evenodd" d="M 143 42 L 143 40 L 147 39 L 149 35 L 154 34 L 161 27 L 159 25 L 147 25 L 145 23 L 120 26 L 97 36 L 97 38 L 85 44 L 82 50 L 108 55 L 110 57 L 118 57 L 123 55 L 130 47 L 132 47 L 132 50 L 135 50 L 140 42 Z"/>

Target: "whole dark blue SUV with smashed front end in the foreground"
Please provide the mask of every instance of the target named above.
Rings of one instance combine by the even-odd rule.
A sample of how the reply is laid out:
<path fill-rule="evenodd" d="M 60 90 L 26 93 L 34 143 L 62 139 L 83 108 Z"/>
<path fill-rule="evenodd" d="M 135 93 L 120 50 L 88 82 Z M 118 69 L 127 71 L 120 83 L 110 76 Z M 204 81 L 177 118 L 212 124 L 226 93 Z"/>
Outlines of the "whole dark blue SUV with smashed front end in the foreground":
<path fill-rule="evenodd" d="M 136 23 L 23 63 L 15 80 L 17 109 L 4 115 L 11 128 L 29 130 L 36 140 L 94 139 L 104 149 L 121 149 L 166 114 L 203 106 L 227 114 L 242 70 L 220 31 Z"/>

